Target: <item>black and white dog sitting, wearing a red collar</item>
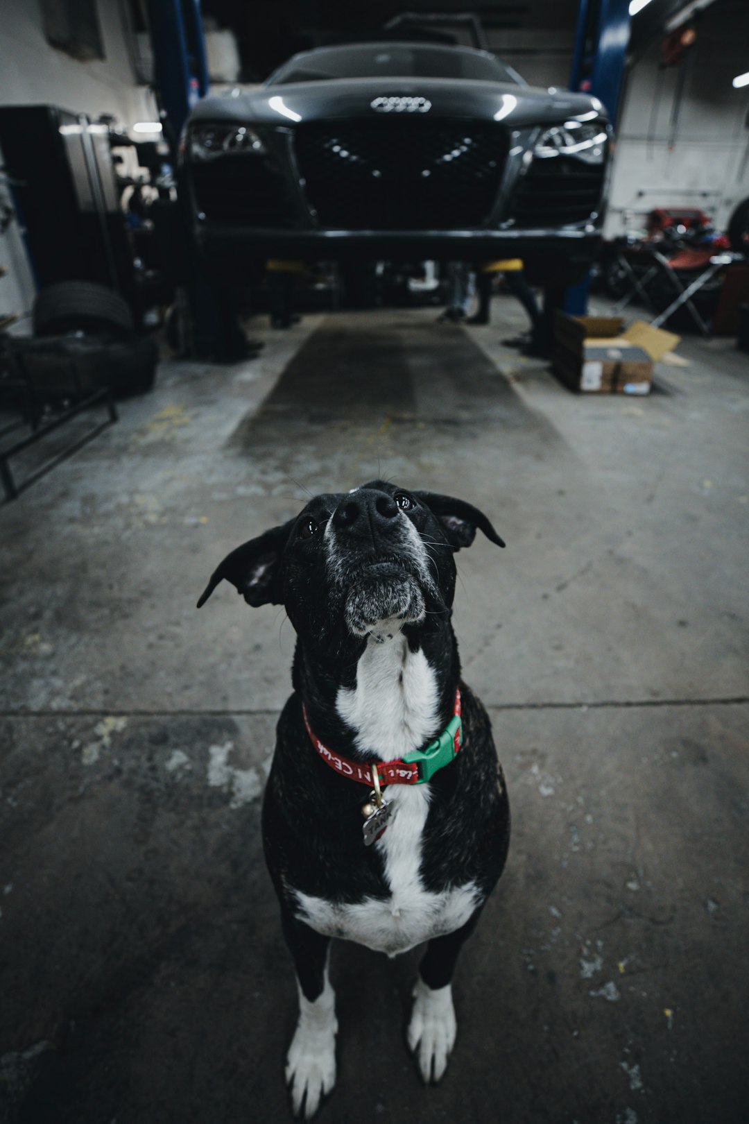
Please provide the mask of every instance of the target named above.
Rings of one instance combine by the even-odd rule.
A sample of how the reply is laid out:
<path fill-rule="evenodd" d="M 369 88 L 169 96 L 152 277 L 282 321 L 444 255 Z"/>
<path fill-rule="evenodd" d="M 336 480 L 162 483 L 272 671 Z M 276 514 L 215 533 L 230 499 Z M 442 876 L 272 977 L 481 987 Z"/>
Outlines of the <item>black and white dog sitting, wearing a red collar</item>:
<path fill-rule="evenodd" d="M 450 624 L 453 554 L 477 527 L 504 545 L 469 504 L 375 480 L 237 547 L 198 602 L 226 579 L 248 605 L 284 605 L 296 629 L 263 841 L 299 984 L 286 1079 L 308 1120 L 336 1080 L 331 937 L 390 957 L 428 941 L 408 1030 L 424 1081 L 455 1043 L 455 963 L 510 840 Z"/>

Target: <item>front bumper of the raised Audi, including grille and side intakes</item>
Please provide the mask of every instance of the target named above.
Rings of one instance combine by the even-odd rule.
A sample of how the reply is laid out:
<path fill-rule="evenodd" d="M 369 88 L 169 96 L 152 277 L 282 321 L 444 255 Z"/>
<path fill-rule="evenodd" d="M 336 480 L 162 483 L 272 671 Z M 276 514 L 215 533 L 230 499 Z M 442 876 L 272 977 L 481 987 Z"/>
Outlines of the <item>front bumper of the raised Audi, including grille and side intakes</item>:
<path fill-rule="evenodd" d="M 241 281 L 267 259 L 522 257 L 551 272 L 568 264 L 585 271 L 601 237 L 604 166 L 530 161 L 539 126 L 417 124 L 258 126 L 253 136 L 262 154 L 188 158 L 194 236 L 207 270 Z"/>

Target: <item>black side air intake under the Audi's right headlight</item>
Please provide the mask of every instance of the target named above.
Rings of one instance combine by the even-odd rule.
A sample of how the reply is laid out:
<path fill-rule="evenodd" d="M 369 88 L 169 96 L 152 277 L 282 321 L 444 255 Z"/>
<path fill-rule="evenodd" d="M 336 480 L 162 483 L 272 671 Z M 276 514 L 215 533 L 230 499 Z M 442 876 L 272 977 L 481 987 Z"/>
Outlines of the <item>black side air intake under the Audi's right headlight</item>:
<path fill-rule="evenodd" d="M 603 167 L 556 156 L 532 161 L 515 191 L 509 215 L 521 227 L 584 223 L 597 211 Z"/>

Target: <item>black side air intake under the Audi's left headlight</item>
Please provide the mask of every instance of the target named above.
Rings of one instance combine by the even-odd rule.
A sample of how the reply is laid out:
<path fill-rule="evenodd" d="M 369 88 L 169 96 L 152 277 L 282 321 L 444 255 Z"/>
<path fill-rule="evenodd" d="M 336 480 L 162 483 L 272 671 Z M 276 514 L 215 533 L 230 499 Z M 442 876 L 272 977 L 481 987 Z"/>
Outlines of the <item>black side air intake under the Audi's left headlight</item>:
<path fill-rule="evenodd" d="M 198 210 L 209 221 L 228 225 L 286 227 L 291 203 L 280 172 L 261 156 L 218 156 L 193 162 Z"/>

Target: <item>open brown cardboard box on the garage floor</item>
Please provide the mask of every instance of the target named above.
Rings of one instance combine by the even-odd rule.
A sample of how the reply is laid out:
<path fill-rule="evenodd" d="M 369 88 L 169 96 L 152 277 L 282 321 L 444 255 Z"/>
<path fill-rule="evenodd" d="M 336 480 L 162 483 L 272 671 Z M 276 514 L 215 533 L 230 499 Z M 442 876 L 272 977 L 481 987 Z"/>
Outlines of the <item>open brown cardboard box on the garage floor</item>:
<path fill-rule="evenodd" d="M 678 343 L 673 332 L 620 316 L 557 312 L 552 368 L 565 386 L 583 393 L 648 395 L 652 365 Z"/>

